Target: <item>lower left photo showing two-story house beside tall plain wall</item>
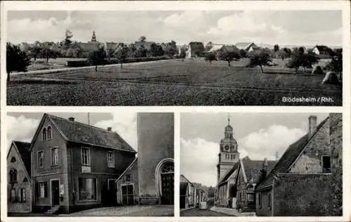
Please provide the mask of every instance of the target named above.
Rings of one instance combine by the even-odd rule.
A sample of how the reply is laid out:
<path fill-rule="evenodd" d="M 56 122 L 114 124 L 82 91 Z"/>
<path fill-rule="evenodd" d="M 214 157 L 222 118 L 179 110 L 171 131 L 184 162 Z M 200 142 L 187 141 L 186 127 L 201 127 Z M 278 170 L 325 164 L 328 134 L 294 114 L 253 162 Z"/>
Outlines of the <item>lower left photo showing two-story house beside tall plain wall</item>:
<path fill-rule="evenodd" d="M 8 216 L 173 216 L 169 112 L 11 112 Z"/>

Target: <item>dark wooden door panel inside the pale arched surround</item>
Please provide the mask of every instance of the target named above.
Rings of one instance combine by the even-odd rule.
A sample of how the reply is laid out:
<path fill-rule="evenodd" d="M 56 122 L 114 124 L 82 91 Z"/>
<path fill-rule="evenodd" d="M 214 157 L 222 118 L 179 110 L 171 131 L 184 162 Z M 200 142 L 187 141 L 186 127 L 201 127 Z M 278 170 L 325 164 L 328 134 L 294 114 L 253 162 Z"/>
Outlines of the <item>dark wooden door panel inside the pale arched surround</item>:
<path fill-rule="evenodd" d="M 168 162 L 161 170 L 161 204 L 174 204 L 174 164 Z"/>

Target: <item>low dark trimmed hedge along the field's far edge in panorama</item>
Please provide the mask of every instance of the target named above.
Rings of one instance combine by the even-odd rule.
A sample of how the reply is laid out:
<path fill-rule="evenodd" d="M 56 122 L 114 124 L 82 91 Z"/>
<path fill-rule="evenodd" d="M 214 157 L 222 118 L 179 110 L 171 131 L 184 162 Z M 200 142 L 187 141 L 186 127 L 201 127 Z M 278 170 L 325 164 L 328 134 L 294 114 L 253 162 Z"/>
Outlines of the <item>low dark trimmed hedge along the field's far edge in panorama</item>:
<path fill-rule="evenodd" d="M 159 57 L 143 57 L 143 58 L 126 58 L 124 63 L 139 63 L 139 62 L 149 62 L 149 61 L 157 61 L 157 60 L 167 60 L 169 58 L 165 56 L 159 56 Z M 104 64 L 102 65 L 110 65 L 110 64 L 118 64 L 119 61 L 117 58 L 112 58 L 110 60 L 106 60 Z M 82 67 L 82 66 L 89 66 L 91 65 L 88 60 L 72 60 L 72 61 L 67 61 L 66 66 L 67 67 Z"/>

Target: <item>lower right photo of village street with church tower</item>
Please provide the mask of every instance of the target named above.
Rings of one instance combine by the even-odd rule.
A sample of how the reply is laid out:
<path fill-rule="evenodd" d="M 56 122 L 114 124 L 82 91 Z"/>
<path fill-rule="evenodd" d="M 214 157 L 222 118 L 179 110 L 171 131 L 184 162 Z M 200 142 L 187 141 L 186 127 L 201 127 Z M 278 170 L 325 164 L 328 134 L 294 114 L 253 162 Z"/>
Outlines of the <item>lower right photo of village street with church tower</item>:
<path fill-rule="evenodd" d="M 343 216 L 341 113 L 180 117 L 180 216 Z"/>

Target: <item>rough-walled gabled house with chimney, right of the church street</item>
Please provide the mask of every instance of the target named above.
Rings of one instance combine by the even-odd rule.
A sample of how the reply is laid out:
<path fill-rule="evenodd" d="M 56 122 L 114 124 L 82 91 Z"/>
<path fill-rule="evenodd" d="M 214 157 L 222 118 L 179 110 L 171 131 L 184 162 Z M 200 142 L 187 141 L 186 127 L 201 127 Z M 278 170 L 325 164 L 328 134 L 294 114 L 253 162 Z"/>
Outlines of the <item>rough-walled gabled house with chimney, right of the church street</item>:
<path fill-rule="evenodd" d="M 339 135 L 336 136 L 333 150 L 341 150 L 342 115 L 330 114 L 318 125 L 317 117 L 311 116 L 308 122 L 308 133 L 289 146 L 267 178 L 256 188 L 258 216 L 334 214 L 331 209 L 337 207 L 334 207 L 333 200 L 338 201 L 333 197 L 338 192 L 333 188 L 337 184 L 340 187 L 341 178 L 332 170 L 340 169 L 340 161 L 338 157 L 331 155 L 331 127 L 336 126 L 333 131 Z M 334 177 L 338 179 L 333 180 Z M 342 204 L 339 209 L 341 206 Z M 334 215 L 340 216 L 340 211 Z"/>

